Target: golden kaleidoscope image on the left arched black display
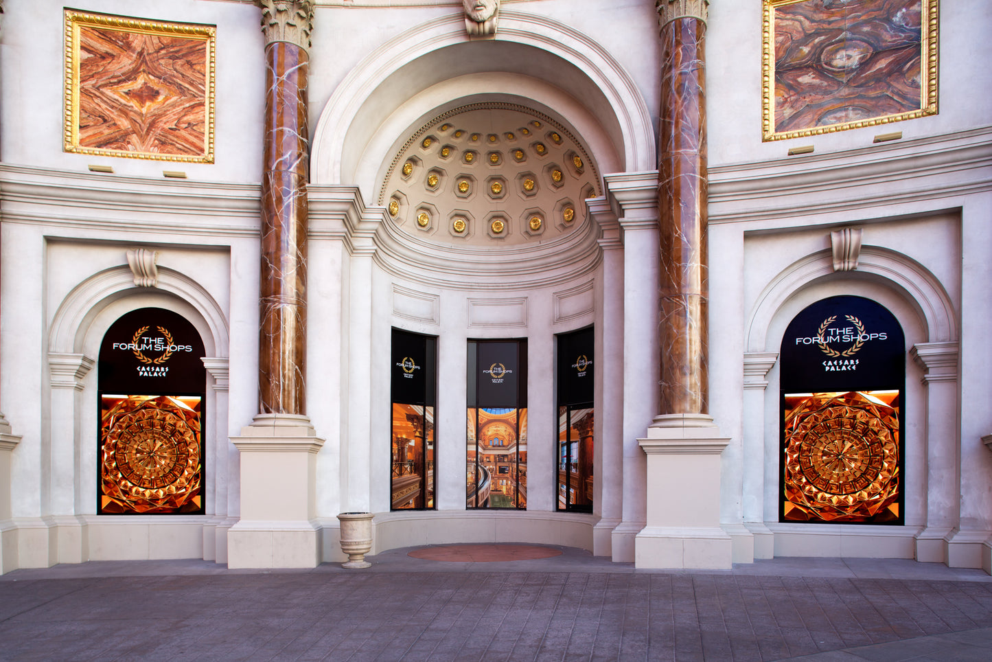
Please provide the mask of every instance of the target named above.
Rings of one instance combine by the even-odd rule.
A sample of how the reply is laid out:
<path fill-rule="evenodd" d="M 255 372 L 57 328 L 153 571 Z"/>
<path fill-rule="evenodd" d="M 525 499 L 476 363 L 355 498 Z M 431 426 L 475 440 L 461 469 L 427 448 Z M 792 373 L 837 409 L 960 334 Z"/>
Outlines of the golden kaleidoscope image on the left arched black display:
<path fill-rule="evenodd" d="M 101 514 L 202 511 L 200 398 L 103 396 Z"/>

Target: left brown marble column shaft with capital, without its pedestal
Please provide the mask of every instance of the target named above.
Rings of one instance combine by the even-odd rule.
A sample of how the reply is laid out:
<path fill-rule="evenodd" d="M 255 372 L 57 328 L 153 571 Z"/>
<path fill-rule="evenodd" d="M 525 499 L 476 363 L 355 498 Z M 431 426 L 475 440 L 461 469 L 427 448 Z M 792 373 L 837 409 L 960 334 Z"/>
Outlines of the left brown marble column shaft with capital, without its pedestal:
<path fill-rule="evenodd" d="M 266 36 L 259 412 L 306 412 L 309 0 L 259 0 Z"/>

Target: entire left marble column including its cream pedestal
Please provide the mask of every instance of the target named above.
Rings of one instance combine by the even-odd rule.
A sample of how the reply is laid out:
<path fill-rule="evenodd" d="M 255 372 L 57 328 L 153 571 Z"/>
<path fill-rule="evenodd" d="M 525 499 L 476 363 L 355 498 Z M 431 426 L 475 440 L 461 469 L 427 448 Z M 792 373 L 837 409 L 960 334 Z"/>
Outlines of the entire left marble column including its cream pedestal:
<path fill-rule="evenodd" d="M 241 517 L 228 568 L 320 563 L 316 437 L 306 412 L 310 0 L 258 0 L 266 37 L 259 414 L 231 442 Z M 216 550 L 215 550 L 216 552 Z"/>

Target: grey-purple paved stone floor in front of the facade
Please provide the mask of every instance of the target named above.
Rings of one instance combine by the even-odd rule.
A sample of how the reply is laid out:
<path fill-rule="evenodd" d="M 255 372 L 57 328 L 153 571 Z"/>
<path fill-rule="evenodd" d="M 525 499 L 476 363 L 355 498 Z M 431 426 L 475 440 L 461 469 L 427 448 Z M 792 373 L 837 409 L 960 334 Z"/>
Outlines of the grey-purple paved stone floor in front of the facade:
<path fill-rule="evenodd" d="M 646 572 L 586 552 L 365 571 L 90 562 L 0 576 L 2 660 L 992 660 L 992 578 L 775 559 Z"/>

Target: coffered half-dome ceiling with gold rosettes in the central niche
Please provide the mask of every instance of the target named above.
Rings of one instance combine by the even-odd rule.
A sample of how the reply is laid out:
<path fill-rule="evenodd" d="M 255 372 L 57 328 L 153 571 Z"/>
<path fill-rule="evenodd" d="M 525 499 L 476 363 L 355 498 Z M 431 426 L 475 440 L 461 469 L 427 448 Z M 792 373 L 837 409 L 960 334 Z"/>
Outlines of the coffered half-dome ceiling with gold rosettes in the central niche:
<path fill-rule="evenodd" d="M 585 219 L 599 176 L 578 140 L 525 106 L 448 110 L 393 159 L 379 194 L 390 219 L 420 239 L 460 245 L 537 243 Z"/>

